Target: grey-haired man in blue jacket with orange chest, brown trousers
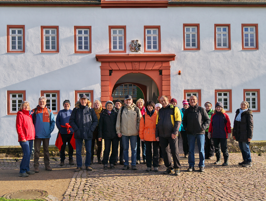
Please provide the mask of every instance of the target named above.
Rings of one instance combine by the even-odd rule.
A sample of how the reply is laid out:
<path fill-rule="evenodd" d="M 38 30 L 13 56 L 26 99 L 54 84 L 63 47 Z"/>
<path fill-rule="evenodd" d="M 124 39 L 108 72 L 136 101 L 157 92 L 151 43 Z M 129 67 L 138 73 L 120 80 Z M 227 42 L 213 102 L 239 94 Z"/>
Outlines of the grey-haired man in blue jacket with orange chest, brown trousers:
<path fill-rule="evenodd" d="M 43 161 L 47 171 L 51 171 L 49 159 L 49 140 L 54 129 L 54 116 L 52 111 L 46 106 L 46 97 L 39 98 L 39 105 L 33 109 L 33 124 L 35 127 L 34 140 L 34 172 L 39 172 L 40 146 L 43 142 Z"/>

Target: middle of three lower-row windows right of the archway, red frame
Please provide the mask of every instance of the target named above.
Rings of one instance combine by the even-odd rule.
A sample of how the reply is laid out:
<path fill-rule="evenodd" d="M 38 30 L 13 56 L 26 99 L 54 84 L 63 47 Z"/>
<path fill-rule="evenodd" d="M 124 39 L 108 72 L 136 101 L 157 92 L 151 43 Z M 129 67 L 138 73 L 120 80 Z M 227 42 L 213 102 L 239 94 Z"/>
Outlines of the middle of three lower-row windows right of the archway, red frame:
<path fill-rule="evenodd" d="M 215 91 L 215 103 L 222 102 L 223 109 L 228 113 L 232 112 L 232 90 L 214 90 Z"/>

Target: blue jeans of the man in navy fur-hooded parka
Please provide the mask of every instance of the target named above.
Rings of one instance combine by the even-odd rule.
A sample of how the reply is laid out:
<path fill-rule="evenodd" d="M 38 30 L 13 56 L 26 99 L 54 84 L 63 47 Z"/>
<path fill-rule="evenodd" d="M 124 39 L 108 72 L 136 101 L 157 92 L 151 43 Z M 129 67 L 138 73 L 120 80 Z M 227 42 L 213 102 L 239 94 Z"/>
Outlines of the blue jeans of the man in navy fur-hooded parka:
<path fill-rule="evenodd" d="M 82 167 L 82 157 L 81 157 L 81 149 L 83 139 L 75 139 L 76 140 L 76 160 L 77 167 Z M 86 150 L 86 158 L 85 158 L 85 166 L 90 166 L 90 157 L 91 157 L 91 140 L 85 140 L 85 150 Z"/>

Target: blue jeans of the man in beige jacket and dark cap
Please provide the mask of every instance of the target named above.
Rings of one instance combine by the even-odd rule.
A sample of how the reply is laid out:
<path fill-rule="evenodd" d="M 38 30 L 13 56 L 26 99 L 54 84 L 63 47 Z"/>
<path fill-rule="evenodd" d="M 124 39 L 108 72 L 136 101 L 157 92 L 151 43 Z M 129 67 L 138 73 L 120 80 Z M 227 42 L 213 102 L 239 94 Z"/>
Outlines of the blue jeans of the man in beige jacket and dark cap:
<path fill-rule="evenodd" d="M 136 165 L 137 160 L 137 135 L 132 136 L 125 136 L 122 135 L 122 143 L 123 143 L 123 154 L 124 154 L 124 165 L 129 165 L 128 162 L 128 149 L 129 149 L 129 140 L 130 140 L 130 147 L 131 147 L 131 166 Z"/>

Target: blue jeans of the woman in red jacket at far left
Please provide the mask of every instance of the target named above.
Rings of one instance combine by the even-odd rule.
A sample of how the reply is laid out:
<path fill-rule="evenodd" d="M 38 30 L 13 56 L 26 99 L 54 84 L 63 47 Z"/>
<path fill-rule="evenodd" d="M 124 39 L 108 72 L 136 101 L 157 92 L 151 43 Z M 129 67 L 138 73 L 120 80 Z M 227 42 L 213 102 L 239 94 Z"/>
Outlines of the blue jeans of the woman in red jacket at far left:
<path fill-rule="evenodd" d="M 20 173 L 25 173 L 27 171 L 30 171 L 30 155 L 33 146 L 33 140 L 20 142 L 20 146 L 23 151 L 23 157 L 20 162 Z"/>

